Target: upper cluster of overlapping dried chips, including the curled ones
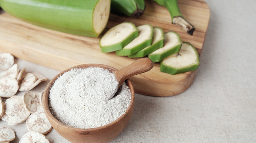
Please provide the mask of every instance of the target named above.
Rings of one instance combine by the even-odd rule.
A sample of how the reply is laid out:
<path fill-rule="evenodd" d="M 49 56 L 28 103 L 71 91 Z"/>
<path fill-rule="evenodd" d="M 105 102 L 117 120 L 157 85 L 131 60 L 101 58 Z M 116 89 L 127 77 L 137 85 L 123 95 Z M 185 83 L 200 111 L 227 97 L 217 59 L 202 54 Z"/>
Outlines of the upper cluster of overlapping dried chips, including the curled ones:
<path fill-rule="evenodd" d="M 0 54 L 0 97 L 10 98 L 17 91 L 29 91 L 39 83 L 48 80 L 38 72 L 19 71 L 19 65 L 13 64 L 14 58 L 10 53 Z"/>

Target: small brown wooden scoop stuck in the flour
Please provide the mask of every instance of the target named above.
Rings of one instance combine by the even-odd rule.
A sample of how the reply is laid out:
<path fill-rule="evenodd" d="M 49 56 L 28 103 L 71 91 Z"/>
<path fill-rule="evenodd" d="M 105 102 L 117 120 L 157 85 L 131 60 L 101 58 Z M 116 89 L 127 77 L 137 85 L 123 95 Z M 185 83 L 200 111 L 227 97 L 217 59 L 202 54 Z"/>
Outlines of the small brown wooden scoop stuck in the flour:
<path fill-rule="evenodd" d="M 123 82 L 126 79 L 128 79 L 130 76 L 147 72 L 151 70 L 153 67 L 154 67 L 153 61 L 150 58 L 145 57 L 145 58 L 140 58 L 134 61 L 133 63 L 122 68 L 121 70 L 118 70 L 118 71 L 109 70 L 109 72 L 112 72 L 116 75 L 116 80 L 118 82 L 118 88 L 119 88 L 123 84 Z M 116 92 L 117 90 L 114 92 L 113 95 L 109 97 L 109 99 L 111 99 Z"/>

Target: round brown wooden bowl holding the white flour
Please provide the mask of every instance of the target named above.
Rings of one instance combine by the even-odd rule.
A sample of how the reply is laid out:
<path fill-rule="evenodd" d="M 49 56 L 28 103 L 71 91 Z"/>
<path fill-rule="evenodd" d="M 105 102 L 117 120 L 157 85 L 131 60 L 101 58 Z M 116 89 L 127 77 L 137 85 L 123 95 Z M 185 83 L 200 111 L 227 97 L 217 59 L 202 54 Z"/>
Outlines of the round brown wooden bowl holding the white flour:
<path fill-rule="evenodd" d="M 117 135 L 119 135 L 122 130 L 125 128 L 127 123 L 129 122 L 133 109 L 134 109 L 134 104 L 135 104 L 135 92 L 134 88 L 130 82 L 129 79 L 126 80 L 126 84 L 129 87 L 131 91 L 131 103 L 126 110 L 126 112 L 119 117 L 117 120 L 101 126 L 97 128 L 91 128 L 91 129 L 79 129 L 79 128 L 74 128 L 70 127 L 68 125 L 65 125 L 55 119 L 49 109 L 49 103 L 48 103 L 48 95 L 49 95 L 49 90 L 53 86 L 53 83 L 55 80 L 64 72 L 70 71 L 73 68 L 89 68 L 89 67 L 100 67 L 104 69 L 111 69 L 111 70 L 117 70 L 113 67 L 107 66 L 107 65 L 102 65 L 102 64 L 84 64 L 84 65 L 78 65 L 72 68 L 69 68 L 65 71 L 60 72 L 58 75 L 56 75 L 47 85 L 45 88 L 44 94 L 43 94 L 43 107 L 45 114 L 52 124 L 53 128 L 65 139 L 73 142 L 73 143 L 103 143 L 103 142 L 109 142 Z"/>

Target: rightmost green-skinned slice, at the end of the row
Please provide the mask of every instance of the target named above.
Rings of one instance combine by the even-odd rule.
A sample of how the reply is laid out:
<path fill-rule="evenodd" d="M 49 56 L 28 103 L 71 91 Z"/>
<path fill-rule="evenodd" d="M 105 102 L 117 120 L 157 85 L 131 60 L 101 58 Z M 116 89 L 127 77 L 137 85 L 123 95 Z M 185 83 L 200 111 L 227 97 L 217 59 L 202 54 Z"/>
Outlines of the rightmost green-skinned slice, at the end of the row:
<path fill-rule="evenodd" d="M 160 63 L 160 71 L 172 75 L 195 71 L 200 65 L 196 48 L 188 42 L 184 42 L 179 53 L 164 58 Z"/>

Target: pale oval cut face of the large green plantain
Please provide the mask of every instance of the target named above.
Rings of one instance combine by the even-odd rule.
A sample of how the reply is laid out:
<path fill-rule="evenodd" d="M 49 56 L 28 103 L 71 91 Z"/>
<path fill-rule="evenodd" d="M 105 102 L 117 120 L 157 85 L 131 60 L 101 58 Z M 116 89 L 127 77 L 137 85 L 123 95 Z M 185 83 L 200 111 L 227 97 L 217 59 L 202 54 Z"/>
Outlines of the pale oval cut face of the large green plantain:
<path fill-rule="evenodd" d="M 99 0 L 93 12 L 93 25 L 99 35 L 107 26 L 110 13 L 110 0 Z"/>

